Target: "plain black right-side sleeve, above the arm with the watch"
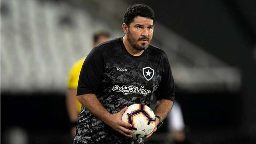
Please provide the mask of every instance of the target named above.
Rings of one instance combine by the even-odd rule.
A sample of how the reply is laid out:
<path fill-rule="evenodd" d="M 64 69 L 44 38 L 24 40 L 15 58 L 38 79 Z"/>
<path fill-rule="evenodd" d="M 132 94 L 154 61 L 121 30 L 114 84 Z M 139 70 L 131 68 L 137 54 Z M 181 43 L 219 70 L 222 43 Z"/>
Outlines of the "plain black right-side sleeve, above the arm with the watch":
<path fill-rule="evenodd" d="M 171 100 L 174 101 L 174 92 L 175 92 L 175 85 L 174 85 L 174 79 L 172 76 L 172 70 L 169 64 L 169 60 L 167 58 L 167 55 L 164 54 L 164 69 L 163 73 L 161 75 L 161 82 L 159 87 L 156 90 L 156 100 Z"/>

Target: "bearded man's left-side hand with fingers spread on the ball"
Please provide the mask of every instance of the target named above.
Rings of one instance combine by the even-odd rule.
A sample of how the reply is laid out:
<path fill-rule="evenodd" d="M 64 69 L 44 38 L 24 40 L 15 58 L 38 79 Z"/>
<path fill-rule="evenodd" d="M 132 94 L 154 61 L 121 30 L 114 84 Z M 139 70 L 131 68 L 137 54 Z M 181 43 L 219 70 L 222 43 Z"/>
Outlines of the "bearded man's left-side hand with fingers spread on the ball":
<path fill-rule="evenodd" d="M 111 114 L 106 124 L 120 134 L 127 137 L 132 137 L 132 135 L 129 134 L 132 133 L 132 130 L 128 129 L 129 127 L 132 127 L 132 125 L 122 121 L 122 115 L 126 110 L 127 106 L 118 113 Z"/>

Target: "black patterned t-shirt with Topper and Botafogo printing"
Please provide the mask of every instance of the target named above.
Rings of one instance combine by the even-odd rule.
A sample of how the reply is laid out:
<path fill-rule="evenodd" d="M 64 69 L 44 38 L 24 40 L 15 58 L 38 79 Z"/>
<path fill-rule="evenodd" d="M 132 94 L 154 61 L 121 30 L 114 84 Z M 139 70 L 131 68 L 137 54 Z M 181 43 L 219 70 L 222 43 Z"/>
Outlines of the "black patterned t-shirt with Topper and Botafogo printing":
<path fill-rule="evenodd" d="M 122 38 L 101 43 L 82 66 L 77 96 L 93 93 L 112 114 L 125 106 L 156 100 L 174 101 L 174 80 L 163 50 L 149 45 L 140 56 L 131 55 Z M 112 130 L 82 106 L 74 143 L 131 143 L 135 139 Z M 144 139 L 139 139 L 144 143 Z"/>

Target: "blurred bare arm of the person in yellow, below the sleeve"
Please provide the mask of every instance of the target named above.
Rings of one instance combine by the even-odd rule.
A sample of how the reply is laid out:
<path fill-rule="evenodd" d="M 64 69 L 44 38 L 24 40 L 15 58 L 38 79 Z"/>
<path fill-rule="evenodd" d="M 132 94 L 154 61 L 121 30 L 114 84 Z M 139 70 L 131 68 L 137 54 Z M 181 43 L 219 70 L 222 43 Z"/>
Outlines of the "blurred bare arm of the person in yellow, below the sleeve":
<path fill-rule="evenodd" d="M 69 88 L 67 90 L 66 106 L 67 106 L 69 121 L 74 124 L 77 122 L 77 119 L 78 119 L 75 99 L 76 99 L 76 89 Z M 71 126 L 71 130 L 70 130 L 71 136 L 73 137 L 75 136 L 75 127 L 76 126 Z"/>

